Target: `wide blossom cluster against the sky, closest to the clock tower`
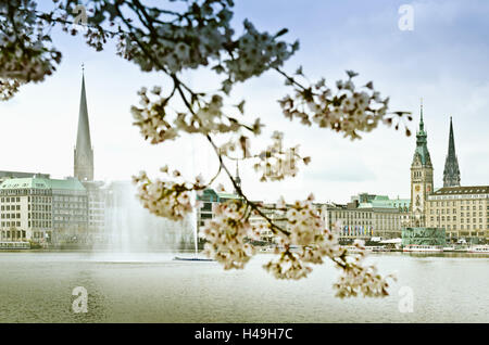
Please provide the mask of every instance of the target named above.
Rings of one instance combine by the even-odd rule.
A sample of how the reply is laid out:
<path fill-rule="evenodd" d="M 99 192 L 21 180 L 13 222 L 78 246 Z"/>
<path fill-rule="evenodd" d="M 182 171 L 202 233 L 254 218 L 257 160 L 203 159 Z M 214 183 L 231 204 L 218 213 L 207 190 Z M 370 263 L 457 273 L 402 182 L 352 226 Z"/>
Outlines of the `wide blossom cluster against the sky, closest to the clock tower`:
<path fill-rule="evenodd" d="M 298 71 L 302 75 L 302 71 Z M 346 138 L 360 139 L 360 131 L 368 132 L 380 120 L 387 124 L 386 114 L 389 98 L 381 98 L 373 82 L 358 89 L 353 78 L 358 75 L 347 71 L 348 79 L 336 82 L 336 92 L 326 86 L 325 79 L 315 85 L 302 87 L 293 78 L 288 84 L 296 86 L 294 97 L 286 95 L 279 101 L 285 117 L 311 126 L 342 132 Z"/>

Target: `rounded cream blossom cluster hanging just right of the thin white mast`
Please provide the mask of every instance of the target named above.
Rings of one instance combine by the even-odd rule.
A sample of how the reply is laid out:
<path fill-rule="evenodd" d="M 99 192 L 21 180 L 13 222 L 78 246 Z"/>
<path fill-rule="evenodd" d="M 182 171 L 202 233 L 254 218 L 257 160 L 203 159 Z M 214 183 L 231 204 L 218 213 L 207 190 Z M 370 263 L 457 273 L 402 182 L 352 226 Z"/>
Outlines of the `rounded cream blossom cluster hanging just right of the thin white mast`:
<path fill-rule="evenodd" d="M 249 240 L 259 239 L 260 232 L 250 225 L 248 210 L 243 201 L 230 200 L 216 205 L 214 218 L 205 221 L 202 230 L 206 240 L 204 253 L 223 264 L 224 269 L 242 269 L 255 254 Z"/>

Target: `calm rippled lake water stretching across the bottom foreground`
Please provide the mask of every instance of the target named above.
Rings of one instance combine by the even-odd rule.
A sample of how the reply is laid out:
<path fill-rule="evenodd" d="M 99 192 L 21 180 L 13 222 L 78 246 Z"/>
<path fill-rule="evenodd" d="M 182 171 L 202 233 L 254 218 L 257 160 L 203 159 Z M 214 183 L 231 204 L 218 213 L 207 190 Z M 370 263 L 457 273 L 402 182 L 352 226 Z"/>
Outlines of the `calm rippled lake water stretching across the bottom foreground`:
<path fill-rule="evenodd" d="M 335 297 L 338 271 L 278 281 L 258 255 L 244 270 L 174 261 L 170 253 L 0 252 L 0 322 L 489 322 L 489 256 L 372 254 L 380 272 L 397 271 L 386 298 Z M 73 289 L 88 292 L 75 314 Z M 402 286 L 413 312 L 400 312 Z"/>

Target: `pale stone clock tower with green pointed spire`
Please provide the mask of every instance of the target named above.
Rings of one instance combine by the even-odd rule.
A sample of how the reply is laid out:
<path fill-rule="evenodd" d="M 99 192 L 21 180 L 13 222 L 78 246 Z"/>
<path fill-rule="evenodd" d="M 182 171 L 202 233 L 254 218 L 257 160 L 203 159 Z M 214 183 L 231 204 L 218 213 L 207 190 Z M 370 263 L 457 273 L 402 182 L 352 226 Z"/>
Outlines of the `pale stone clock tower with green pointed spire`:
<path fill-rule="evenodd" d="M 416 132 L 416 150 L 411 164 L 411 225 L 426 226 L 426 200 L 432 193 L 432 164 L 427 145 L 421 105 L 419 130 Z"/>

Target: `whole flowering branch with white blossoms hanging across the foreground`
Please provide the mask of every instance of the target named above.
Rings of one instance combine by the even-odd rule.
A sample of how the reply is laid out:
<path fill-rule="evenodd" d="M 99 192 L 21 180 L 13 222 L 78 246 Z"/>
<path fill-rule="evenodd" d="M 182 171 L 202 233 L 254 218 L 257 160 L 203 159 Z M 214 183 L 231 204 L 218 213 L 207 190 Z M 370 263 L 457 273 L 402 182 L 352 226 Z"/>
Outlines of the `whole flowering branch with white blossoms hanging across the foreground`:
<path fill-rule="evenodd" d="M 297 146 L 284 148 L 280 132 L 273 135 L 271 145 L 251 152 L 250 137 L 260 136 L 264 126 L 261 118 L 248 123 L 241 116 L 244 101 L 225 101 L 235 85 L 273 71 L 290 88 L 290 94 L 278 100 L 285 117 L 305 126 L 329 128 L 354 140 L 379 123 L 396 122 L 396 129 L 404 125 L 409 136 L 409 113 L 388 113 L 389 99 L 380 97 L 373 82 L 355 86 L 356 73 L 351 71 L 333 87 L 324 78 L 309 81 L 302 67 L 289 74 L 284 63 L 299 49 L 299 42 L 283 40 L 287 29 L 269 34 L 248 20 L 242 28 L 231 27 L 233 0 L 168 0 L 162 8 L 139 0 L 92 0 L 83 1 L 83 5 L 75 0 L 52 2 L 50 11 L 39 11 L 37 1 L 32 0 L 0 2 L 1 99 L 8 100 L 22 85 L 42 81 L 55 72 L 62 54 L 51 40 L 53 27 L 83 34 L 97 51 L 114 40 L 117 55 L 145 73 L 163 75 L 163 88 L 141 88 L 140 104 L 130 108 L 145 140 L 159 144 L 181 133 L 199 135 L 209 141 L 220 163 L 216 174 L 205 181 L 201 176 L 185 181 L 177 169 L 167 166 L 161 169 L 163 178 L 150 179 L 141 173 L 134 180 L 145 207 L 158 216 L 183 219 L 198 206 L 191 193 L 202 192 L 225 174 L 240 199 L 220 205 L 216 217 L 208 220 L 203 230 L 206 254 L 225 269 L 243 268 L 255 253 L 248 240 L 259 239 L 260 231 L 267 228 L 278 238 L 279 246 L 277 256 L 264 268 L 276 278 L 306 277 L 312 264 L 329 258 L 342 271 L 334 285 L 338 296 L 388 294 L 387 278 L 364 264 L 363 244 L 355 244 L 360 254 L 340 247 L 333 229 L 326 229 L 314 209 L 312 195 L 290 205 L 284 199 L 277 202 L 276 209 L 286 213 L 286 226 L 269 218 L 264 205 L 247 197 L 225 164 L 228 159 L 254 161 L 260 181 L 266 182 L 296 176 L 299 165 L 311 158 L 300 155 Z M 184 72 L 199 67 L 215 73 L 221 80 L 218 90 L 196 90 L 183 81 Z M 218 143 L 223 133 L 233 139 Z M 251 215 L 262 217 L 265 225 L 251 225 Z M 291 251 L 292 245 L 300 251 Z"/>

